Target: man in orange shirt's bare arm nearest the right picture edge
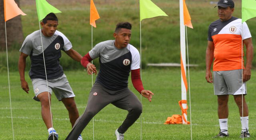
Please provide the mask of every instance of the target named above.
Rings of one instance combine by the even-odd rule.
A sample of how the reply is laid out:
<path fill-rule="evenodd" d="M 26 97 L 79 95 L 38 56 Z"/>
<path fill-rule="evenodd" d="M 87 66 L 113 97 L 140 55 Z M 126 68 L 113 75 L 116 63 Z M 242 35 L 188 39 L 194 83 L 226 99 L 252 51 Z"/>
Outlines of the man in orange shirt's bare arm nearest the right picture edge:
<path fill-rule="evenodd" d="M 251 68 L 252 68 L 252 59 L 253 59 L 252 37 L 248 39 L 244 39 L 243 43 L 246 46 L 246 66 L 243 71 L 243 82 L 246 82 L 251 78 Z"/>

